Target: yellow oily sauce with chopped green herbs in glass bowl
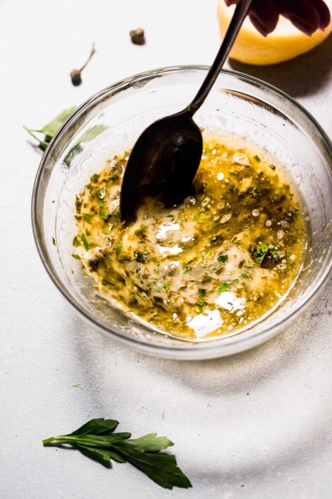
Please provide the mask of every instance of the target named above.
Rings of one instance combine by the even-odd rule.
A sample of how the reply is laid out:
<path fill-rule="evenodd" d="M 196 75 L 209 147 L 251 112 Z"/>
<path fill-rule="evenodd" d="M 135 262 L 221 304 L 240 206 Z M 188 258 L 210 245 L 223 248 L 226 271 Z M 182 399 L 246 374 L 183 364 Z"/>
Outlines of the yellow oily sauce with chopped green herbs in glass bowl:
<path fill-rule="evenodd" d="M 172 209 L 146 204 L 129 227 L 119 217 L 126 160 L 108 161 L 76 198 L 73 256 L 100 295 L 189 339 L 234 332 L 282 300 L 308 231 L 299 196 L 266 153 L 206 141 L 195 194 Z"/>

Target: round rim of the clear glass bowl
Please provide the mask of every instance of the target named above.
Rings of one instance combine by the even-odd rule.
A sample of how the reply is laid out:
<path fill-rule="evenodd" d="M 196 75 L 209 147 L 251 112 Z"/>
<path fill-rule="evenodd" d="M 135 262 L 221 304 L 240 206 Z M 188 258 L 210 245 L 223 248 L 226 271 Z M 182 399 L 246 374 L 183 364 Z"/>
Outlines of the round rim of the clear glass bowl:
<path fill-rule="evenodd" d="M 202 342 L 202 343 L 195 343 L 195 346 L 192 344 L 188 344 L 184 342 L 183 344 L 180 345 L 174 345 L 174 344 L 163 344 L 163 343 L 149 343 L 147 341 L 142 341 L 139 338 L 135 337 L 129 337 L 125 333 L 122 333 L 120 329 L 108 326 L 108 324 L 100 321 L 98 318 L 93 317 L 91 314 L 87 313 L 86 310 L 84 310 L 80 304 L 76 301 L 76 299 L 67 291 L 67 289 L 63 286 L 61 280 L 57 277 L 57 275 L 53 272 L 51 265 L 49 265 L 47 261 L 47 255 L 44 254 L 44 250 L 42 248 L 41 242 L 38 237 L 38 221 L 37 221 L 37 194 L 38 194 L 38 189 L 39 189 L 39 183 L 41 179 L 41 174 L 42 171 L 47 163 L 48 157 L 50 155 L 50 152 L 53 149 L 54 144 L 56 144 L 58 137 L 62 134 L 62 132 L 67 128 L 67 126 L 74 122 L 76 120 L 76 117 L 87 107 L 92 105 L 95 101 L 97 101 L 100 97 L 103 97 L 105 94 L 109 94 L 110 92 L 114 90 L 118 90 L 124 85 L 128 85 L 130 83 L 135 82 L 136 80 L 140 78 L 146 78 L 146 77 L 152 77 L 155 75 L 162 75 L 163 73 L 172 73 L 172 72 L 182 72 L 182 71 L 193 71 L 193 70 L 200 70 L 200 71 L 208 71 L 210 69 L 210 66 L 208 65 L 195 65 L 195 64 L 190 64 L 190 65 L 175 65 L 175 66 L 168 66 L 168 67 L 161 67 L 157 69 L 152 69 L 148 71 L 143 71 L 141 73 L 137 73 L 135 75 L 129 76 L 127 78 L 121 79 L 104 89 L 100 90 L 99 92 L 95 93 L 92 95 L 90 98 L 85 100 L 81 105 L 79 105 L 75 111 L 64 121 L 64 123 L 60 126 L 60 128 L 57 130 L 57 132 L 54 134 L 52 137 L 51 141 L 49 142 L 45 152 L 43 153 L 43 156 L 41 158 L 41 161 L 39 163 L 36 177 L 34 180 L 33 184 L 33 190 L 32 190 L 32 199 L 31 199 L 31 219 L 32 219 L 32 230 L 33 230 L 33 236 L 34 240 L 36 243 L 36 247 L 39 253 L 39 256 L 41 258 L 41 261 L 49 274 L 50 278 L 54 282 L 54 284 L 57 286 L 57 288 L 60 290 L 60 292 L 65 296 L 65 298 L 72 304 L 72 306 L 81 314 L 83 317 L 93 326 L 97 327 L 99 331 L 103 332 L 107 336 L 116 339 L 118 342 L 122 344 L 128 345 L 135 345 L 135 348 L 137 350 L 141 350 L 146 353 L 158 355 L 158 353 L 163 356 L 163 357 L 174 357 L 174 358 L 188 358 L 188 359 L 202 359 L 202 358 L 215 358 L 215 357 L 221 357 L 223 355 L 230 355 L 233 353 L 238 353 L 243 350 L 246 350 L 248 348 L 251 348 L 255 345 L 258 345 L 262 343 L 265 339 L 270 339 L 272 338 L 275 334 L 277 334 L 281 326 L 284 325 L 285 327 L 291 323 L 301 312 L 303 312 L 309 305 L 310 303 L 316 298 L 318 292 L 322 290 L 323 285 L 327 282 L 329 275 L 331 274 L 332 270 L 332 259 L 330 259 L 330 263 L 327 265 L 325 268 L 324 272 L 322 273 L 320 279 L 318 282 L 314 283 L 314 285 L 311 287 L 309 294 L 307 295 L 306 299 L 301 303 L 299 303 L 298 306 L 296 306 L 291 314 L 286 314 L 282 319 L 278 320 L 276 323 L 271 324 L 267 328 L 264 328 L 261 331 L 255 332 L 255 331 L 247 331 L 247 333 L 244 333 L 244 335 L 234 335 L 229 338 L 220 338 L 222 339 L 222 343 L 218 341 L 218 338 L 216 338 L 216 342 Z M 311 122 L 312 125 L 316 128 L 316 130 L 319 132 L 321 139 L 325 142 L 325 147 L 326 150 L 329 152 L 330 157 L 332 158 L 332 142 L 327 135 L 327 133 L 324 131 L 324 129 L 321 127 L 321 125 L 318 123 L 318 121 L 312 116 L 312 114 L 304 107 L 302 106 L 299 102 L 297 102 L 295 99 L 293 99 L 291 96 L 289 96 L 287 93 L 283 92 L 282 90 L 278 89 L 277 87 L 271 85 L 270 83 L 264 82 L 263 80 L 260 80 L 259 78 L 256 78 L 254 76 L 249 76 L 244 73 L 241 73 L 239 71 L 233 71 L 229 69 L 222 69 L 221 74 L 226 74 L 232 77 L 235 77 L 238 80 L 244 81 L 245 83 L 249 83 L 250 85 L 261 88 L 263 90 L 271 90 L 273 93 L 279 95 L 286 101 L 288 101 L 290 104 L 292 104 L 295 108 L 297 108 L 300 113 L 302 113 L 307 120 Z M 332 176 L 332 168 L 330 165 L 326 163 L 326 167 L 329 170 L 330 175 Z M 253 338 L 255 338 L 255 341 L 252 342 Z M 164 350 L 165 353 L 162 353 L 162 350 Z M 180 355 L 176 355 L 176 352 L 181 352 Z M 212 353 L 212 351 L 214 353 Z M 169 352 L 169 355 L 167 355 L 167 352 Z M 202 356 L 203 353 L 209 354 L 206 356 Z"/>

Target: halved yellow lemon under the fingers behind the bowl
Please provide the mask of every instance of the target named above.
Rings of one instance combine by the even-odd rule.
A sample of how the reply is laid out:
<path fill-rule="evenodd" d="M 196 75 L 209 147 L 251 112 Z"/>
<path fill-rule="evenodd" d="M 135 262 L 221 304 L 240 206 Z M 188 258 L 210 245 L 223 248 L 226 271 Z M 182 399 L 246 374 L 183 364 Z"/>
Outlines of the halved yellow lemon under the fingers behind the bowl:
<path fill-rule="evenodd" d="M 325 0 L 330 11 L 332 0 Z M 227 7 L 224 0 L 218 3 L 218 19 L 221 38 L 223 38 L 230 19 L 234 12 L 234 5 Z M 299 31 L 293 24 L 280 16 L 276 29 L 266 37 L 261 35 L 251 24 L 248 17 L 245 19 L 237 39 L 230 52 L 230 57 L 244 64 L 276 64 L 293 59 L 297 55 L 308 52 L 324 41 L 332 31 L 332 21 L 325 31 L 317 30 L 311 36 Z"/>

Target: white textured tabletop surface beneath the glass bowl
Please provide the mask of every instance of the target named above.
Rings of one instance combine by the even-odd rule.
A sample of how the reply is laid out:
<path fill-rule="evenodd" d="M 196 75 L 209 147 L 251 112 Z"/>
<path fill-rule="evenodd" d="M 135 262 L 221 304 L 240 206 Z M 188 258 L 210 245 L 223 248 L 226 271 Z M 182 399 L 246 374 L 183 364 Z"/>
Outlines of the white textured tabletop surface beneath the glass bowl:
<path fill-rule="evenodd" d="M 215 0 L 0 0 L 1 499 L 331 497 L 331 281 L 319 302 L 259 348 L 207 362 L 160 360 L 83 324 L 32 238 L 40 155 L 22 125 L 43 125 L 142 70 L 210 63 L 219 45 L 215 7 Z M 143 47 L 128 39 L 139 25 Z M 69 72 L 92 41 L 97 53 L 74 88 Z M 232 67 L 286 90 L 331 135 L 331 54 L 332 39 L 280 66 Z M 42 438 L 101 416 L 118 418 L 120 431 L 134 436 L 171 438 L 194 488 L 164 491 L 129 465 L 108 470 L 76 451 L 42 447 Z"/>

